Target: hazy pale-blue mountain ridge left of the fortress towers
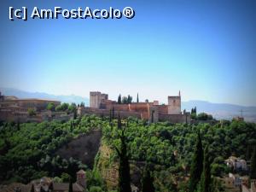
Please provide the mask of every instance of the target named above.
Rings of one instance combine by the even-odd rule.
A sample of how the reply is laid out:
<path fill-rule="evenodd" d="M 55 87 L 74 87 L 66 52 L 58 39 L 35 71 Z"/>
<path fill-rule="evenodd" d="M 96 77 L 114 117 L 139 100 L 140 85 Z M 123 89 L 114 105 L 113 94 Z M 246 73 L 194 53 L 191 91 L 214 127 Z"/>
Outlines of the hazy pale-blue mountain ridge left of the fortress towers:
<path fill-rule="evenodd" d="M 85 105 L 89 105 L 89 99 L 83 96 L 55 96 L 48 93 L 43 92 L 28 92 L 25 90 L 18 90 L 14 88 L 0 88 L 2 95 L 4 96 L 17 96 L 18 98 L 38 98 L 38 99 L 51 99 L 57 100 L 60 102 L 68 102 L 72 103 L 75 102 L 77 104 L 84 102 Z"/>

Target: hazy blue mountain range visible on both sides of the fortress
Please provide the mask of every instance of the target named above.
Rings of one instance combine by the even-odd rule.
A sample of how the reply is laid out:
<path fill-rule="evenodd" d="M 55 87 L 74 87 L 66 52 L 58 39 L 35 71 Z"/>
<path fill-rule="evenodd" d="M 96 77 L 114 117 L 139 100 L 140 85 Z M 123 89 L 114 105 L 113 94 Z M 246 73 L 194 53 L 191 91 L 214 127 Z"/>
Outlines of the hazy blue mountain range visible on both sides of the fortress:
<path fill-rule="evenodd" d="M 55 96 L 43 92 L 28 92 L 25 90 L 17 90 L 13 88 L 0 88 L 2 95 L 17 96 L 19 98 L 38 98 L 38 99 L 53 99 L 61 102 L 75 102 L 79 104 L 84 102 L 85 106 L 89 106 L 89 98 L 83 96 Z M 182 102 L 182 108 L 190 111 L 191 108 L 197 108 L 197 113 L 211 113 L 215 119 L 232 119 L 236 116 L 244 117 L 247 121 L 256 122 L 256 107 L 246 107 L 228 103 L 212 103 L 199 100 L 191 100 Z"/>

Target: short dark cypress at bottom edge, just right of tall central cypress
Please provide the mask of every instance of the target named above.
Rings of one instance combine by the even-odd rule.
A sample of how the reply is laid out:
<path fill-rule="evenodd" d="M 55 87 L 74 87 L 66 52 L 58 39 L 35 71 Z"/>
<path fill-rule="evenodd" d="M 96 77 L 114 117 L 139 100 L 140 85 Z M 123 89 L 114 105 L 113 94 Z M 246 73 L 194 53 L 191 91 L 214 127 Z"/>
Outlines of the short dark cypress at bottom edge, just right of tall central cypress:
<path fill-rule="evenodd" d="M 142 192 L 154 192 L 154 178 L 151 176 L 149 167 L 146 165 L 143 170 Z"/>

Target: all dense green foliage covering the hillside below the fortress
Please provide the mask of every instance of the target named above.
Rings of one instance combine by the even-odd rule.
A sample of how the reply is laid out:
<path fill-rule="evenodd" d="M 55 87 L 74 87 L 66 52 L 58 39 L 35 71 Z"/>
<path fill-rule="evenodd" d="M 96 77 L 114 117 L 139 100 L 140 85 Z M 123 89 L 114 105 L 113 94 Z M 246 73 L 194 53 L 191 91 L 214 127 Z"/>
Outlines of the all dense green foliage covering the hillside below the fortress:
<path fill-rule="evenodd" d="M 67 108 L 68 110 L 68 108 Z M 223 121 L 216 125 L 172 125 L 166 122 L 148 125 L 146 121 L 123 119 L 126 125 L 126 150 L 130 162 L 150 162 L 155 191 L 184 191 L 189 177 L 198 131 L 202 147 L 209 145 L 213 157 L 211 174 L 220 176 L 228 172 L 224 160 L 231 154 L 246 158 L 252 155 L 256 143 L 256 125 L 242 121 Z M 32 179 L 49 176 L 56 180 L 75 179 L 75 172 L 86 168 L 78 160 L 64 160 L 55 151 L 80 134 L 93 128 L 103 132 L 103 142 L 121 148 L 118 137 L 118 121 L 84 116 L 68 122 L 2 123 L 0 124 L 0 180 L 27 183 Z M 114 150 L 113 150 L 114 151 Z M 118 161 L 114 153 L 110 161 Z M 142 172 L 143 172 L 143 167 Z M 66 175 L 65 175 L 66 173 Z M 86 171 L 88 188 L 106 191 L 97 172 Z M 59 177 L 59 178 L 58 178 Z M 68 181 L 67 181 L 68 182 Z"/>

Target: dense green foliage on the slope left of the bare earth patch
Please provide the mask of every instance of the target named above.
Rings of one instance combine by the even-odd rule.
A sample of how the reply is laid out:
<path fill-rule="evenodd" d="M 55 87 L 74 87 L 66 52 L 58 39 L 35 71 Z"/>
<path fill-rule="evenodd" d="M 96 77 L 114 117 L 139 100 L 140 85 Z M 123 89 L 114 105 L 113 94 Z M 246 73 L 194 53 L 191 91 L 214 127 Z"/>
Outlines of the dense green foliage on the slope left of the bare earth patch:
<path fill-rule="evenodd" d="M 97 125 L 101 125 L 101 120 L 93 117 L 90 117 L 90 124 L 88 117 L 66 123 L 2 123 L 0 180 L 27 183 L 43 176 L 61 177 L 62 172 L 75 179 L 75 172 L 85 166 L 72 158 L 61 159 L 55 155 L 55 151 Z"/>

